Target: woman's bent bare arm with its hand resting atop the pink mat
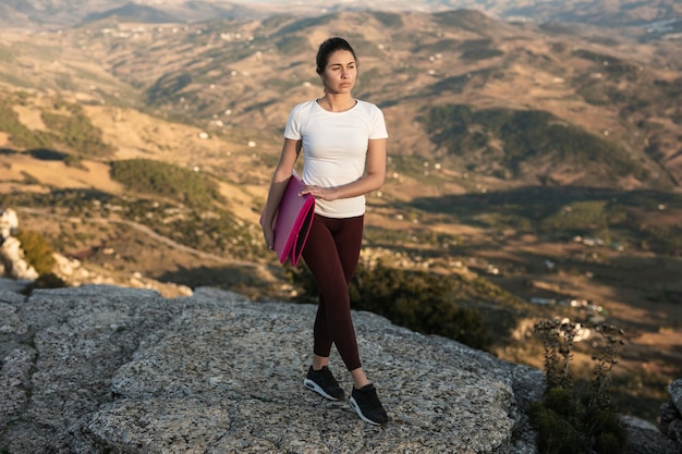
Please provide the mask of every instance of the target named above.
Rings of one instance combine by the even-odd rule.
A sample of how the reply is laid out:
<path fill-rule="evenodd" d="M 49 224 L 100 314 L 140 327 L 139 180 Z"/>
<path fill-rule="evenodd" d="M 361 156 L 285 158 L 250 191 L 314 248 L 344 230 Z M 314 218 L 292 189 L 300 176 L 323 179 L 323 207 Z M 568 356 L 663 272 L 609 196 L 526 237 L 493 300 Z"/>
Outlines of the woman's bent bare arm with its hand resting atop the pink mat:
<path fill-rule="evenodd" d="M 312 194 L 324 200 L 351 198 L 377 191 L 386 179 L 386 138 L 368 140 L 365 174 L 353 183 L 337 187 L 305 186 L 301 194 Z"/>

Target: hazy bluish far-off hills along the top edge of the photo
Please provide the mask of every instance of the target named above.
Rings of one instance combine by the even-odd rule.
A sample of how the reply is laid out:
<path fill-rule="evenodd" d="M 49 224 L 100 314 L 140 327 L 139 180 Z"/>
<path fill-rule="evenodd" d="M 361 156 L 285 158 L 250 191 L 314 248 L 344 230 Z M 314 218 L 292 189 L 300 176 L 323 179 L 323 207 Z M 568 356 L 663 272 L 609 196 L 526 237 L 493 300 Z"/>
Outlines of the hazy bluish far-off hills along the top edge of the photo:
<path fill-rule="evenodd" d="M 521 3 L 521 4 L 520 4 Z M 130 8 L 126 4 L 149 7 L 184 23 L 210 19 L 263 19 L 279 14 L 315 16 L 320 13 L 341 11 L 389 11 L 389 12 L 442 12 L 456 9 L 475 9 L 500 19 L 534 21 L 536 23 L 563 22 L 608 27 L 658 27 L 672 21 L 675 33 L 682 27 L 682 5 L 677 0 L 595 0 L 592 2 L 569 0 L 509 2 L 504 0 L 344 0 L 329 2 L 309 0 L 289 3 L 268 0 L 0 0 L 0 25 L 7 27 L 69 27 L 88 17 L 102 17 L 109 11 Z M 142 10 L 139 10 L 142 11 Z M 145 14 L 139 17 L 146 20 Z M 161 15 L 151 15 L 153 23 Z M 650 29 L 649 29 L 650 32 Z"/>

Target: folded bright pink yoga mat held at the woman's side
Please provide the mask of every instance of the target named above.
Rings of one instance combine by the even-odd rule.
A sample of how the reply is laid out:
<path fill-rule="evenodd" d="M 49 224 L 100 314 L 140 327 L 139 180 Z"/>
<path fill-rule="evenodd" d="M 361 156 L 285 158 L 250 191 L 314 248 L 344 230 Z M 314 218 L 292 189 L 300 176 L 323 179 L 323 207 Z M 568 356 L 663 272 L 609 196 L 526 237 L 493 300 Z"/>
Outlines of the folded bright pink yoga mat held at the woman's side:
<path fill-rule="evenodd" d="M 294 172 L 289 179 L 275 218 L 275 251 L 281 263 L 287 259 L 294 266 L 299 263 L 313 224 L 315 197 L 309 194 L 300 196 L 303 186 L 305 184 Z M 260 223 L 263 224 L 263 214 Z"/>

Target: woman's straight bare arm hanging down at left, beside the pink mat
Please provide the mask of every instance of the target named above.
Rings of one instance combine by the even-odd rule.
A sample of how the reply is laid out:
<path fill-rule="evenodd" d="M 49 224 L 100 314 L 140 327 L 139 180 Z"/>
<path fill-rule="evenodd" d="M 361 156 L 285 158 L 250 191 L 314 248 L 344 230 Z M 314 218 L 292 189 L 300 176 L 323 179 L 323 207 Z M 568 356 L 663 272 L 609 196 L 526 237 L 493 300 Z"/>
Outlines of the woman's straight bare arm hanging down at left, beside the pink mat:
<path fill-rule="evenodd" d="M 270 182 L 270 189 L 268 191 L 268 200 L 265 204 L 265 210 L 263 211 L 263 235 L 268 249 L 275 247 L 275 230 L 273 221 L 277 216 L 287 183 L 296 163 L 296 158 L 301 152 L 301 140 L 294 140 L 285 138 L 282 145 L 282 152 L 279 158 L 279 163 L 272 174 Z"/>

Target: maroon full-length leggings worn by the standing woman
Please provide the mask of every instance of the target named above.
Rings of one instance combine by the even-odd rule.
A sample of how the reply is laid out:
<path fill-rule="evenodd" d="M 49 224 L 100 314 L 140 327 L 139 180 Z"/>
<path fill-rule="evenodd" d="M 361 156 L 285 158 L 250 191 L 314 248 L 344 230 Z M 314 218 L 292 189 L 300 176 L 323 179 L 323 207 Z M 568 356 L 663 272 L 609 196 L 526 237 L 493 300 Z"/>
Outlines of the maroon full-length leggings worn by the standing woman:
<path fill-rule="evenodd" d="M 305 265 L 319 289 L 313 353 L 329 357 L 333 343 L 348 370 L 362 366 L 351 319 L 349 283 L 360 258 L 364 219 L 364 216 L 332 219 L 315 214 L 303 248 Z"/>

